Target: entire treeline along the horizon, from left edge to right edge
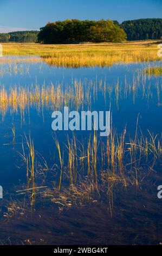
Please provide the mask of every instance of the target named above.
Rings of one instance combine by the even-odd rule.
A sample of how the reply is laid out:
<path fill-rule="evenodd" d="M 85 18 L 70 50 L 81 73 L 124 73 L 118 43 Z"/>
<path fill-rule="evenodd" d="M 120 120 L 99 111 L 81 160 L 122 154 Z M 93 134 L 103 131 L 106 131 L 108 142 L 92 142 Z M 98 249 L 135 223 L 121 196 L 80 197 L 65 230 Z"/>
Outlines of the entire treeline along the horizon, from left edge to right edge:
<path fill-rule="evenodd" d="M 125 40 L 162 39 L 162 19 L 124 21 L 66 20 L 48 22 L 38 31 L 0 33 L 0 42 L 41 42 L 70 44 L 77 42 L 123 42 Z"/>

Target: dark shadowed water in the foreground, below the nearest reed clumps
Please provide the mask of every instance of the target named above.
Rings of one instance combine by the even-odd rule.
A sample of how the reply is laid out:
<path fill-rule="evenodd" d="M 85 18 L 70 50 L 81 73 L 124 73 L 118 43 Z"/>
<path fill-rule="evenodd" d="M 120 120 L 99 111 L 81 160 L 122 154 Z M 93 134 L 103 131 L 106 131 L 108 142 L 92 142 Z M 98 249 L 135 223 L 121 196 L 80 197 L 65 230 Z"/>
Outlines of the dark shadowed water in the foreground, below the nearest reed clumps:
<path fill-rule="evenodd" d="M 60 212 L 54 205 L 38 206 L 1 220 L 2 244 L 32 245 L 157 245 L 162 241 L 161 200 L 157 186 L 116 188 L 113 215 L 108 198 Z"/>

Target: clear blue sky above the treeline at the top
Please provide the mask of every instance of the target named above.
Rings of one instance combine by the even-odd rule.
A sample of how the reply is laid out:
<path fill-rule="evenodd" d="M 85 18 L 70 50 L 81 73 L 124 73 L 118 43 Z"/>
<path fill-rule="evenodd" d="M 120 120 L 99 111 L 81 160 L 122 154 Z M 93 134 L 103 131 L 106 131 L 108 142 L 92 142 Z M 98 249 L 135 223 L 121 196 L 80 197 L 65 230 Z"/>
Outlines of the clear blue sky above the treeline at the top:
<path fill-rule="evenodd" d="M 39 29 L 48 21 L 162 18 L 162 0 L 0 0 L 0 32 Z"/>

